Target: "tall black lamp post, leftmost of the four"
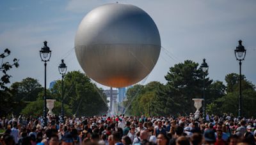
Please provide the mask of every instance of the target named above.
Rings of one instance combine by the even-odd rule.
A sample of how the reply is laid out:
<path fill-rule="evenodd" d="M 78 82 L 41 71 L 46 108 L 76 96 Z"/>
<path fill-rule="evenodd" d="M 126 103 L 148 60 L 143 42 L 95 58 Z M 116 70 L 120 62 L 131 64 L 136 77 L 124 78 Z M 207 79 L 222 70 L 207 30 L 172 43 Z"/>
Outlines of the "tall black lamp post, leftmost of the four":
<path fill-rule="evenodd" d="M 40 57 L 44 62 L 44 127 L 47 126 L 47 114 L 46 114 L 46 62 L 48 62 L 51 58 L 51 50 L 47 46 L 47 41 L 44 41 L 44 47 L 41 48 Z"/>

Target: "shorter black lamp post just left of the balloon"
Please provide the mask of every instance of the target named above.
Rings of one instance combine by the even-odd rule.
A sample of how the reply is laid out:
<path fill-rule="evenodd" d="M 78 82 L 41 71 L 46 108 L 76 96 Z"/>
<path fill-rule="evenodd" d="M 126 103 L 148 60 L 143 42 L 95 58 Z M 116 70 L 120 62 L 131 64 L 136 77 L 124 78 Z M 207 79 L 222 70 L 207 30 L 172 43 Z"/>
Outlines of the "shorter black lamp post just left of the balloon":
<path fill-rule="evenodd" d="M 63 83 L 63 79 L 64 79 L 64 76 L 67 72 L 67 66 L 66 64 L 64 63 L 64 60 L 61 59 L 61 64 L 59 66 L 59 72 L 62 76 L 62 79 L 61 79 L 61 83 L 62 83 L 62 87 L 61 87 L 61 97 L 62 97 L 62 100 L 61 100 L 61 121 L 64 122 L 64 83 Z"/>

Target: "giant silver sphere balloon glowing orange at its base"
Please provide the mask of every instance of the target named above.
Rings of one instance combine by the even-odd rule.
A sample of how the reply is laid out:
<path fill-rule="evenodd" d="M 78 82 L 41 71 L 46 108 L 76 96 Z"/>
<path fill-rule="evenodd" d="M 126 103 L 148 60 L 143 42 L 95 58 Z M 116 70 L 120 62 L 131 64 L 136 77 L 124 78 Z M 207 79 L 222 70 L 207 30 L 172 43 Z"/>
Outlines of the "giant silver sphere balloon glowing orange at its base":
<path fill-rule="evenodd" d="M 161 41 L 145 11 L 131 4 L 105 4 L 83 18 L 75 50 L 90 78 L 120 88 L 138 83 L 152 71 Z"/>

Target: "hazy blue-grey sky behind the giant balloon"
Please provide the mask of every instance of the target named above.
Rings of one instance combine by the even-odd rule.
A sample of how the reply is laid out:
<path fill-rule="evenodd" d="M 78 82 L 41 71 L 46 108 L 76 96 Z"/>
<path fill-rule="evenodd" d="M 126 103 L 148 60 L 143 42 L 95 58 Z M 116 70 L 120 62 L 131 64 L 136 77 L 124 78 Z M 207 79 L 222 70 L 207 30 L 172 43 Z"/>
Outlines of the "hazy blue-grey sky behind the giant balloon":
<path fill-rule="evenodd" d="M 47 63 L 47 87 L 61 79 L 58 66 L 65 59 L 68 71 L 83 69 L 74 52 L 74 38 L 83 17 L 97 6 L 116 1 L 100 0 L 22 0 L 0 1 L 0 50 L 11 50 L 9 59 L 19 59 L 12 69 L 11 83 L 31 77 L 44 85 L 44 63 L 39 50 L 48 41 L 52 57 Z M 209 77 L 224 81 L 225 75 L 239 73 L 234 55 L 238 40 L 243 40 L 246 58 L 242 73 L 256 84 L 256 1 L 118 1 L 145 10 L 156 23 L 160 36 L 159 60 L 147 79 L 166 83 L 169 68 L 184 60 L 209 65 Z M 2 75 L 2 74 L 1 74 Z M 107 88 L 97 84 L 100 87 Z"/>

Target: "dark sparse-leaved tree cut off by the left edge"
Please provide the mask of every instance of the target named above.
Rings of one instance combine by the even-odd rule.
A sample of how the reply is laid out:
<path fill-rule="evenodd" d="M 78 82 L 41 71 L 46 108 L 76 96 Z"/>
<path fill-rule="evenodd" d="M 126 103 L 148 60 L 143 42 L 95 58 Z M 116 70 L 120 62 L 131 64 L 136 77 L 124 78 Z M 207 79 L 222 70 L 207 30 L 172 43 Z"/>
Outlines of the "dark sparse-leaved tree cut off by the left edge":
<path fill-rule="evenodd" d="M 6 84 L 10 83 L 10 78 L 12 77 L 7 72 L 14 67 L 19 67 L 19 60 L 13 59 L 13 62 L 4 62 L 4 59 L 10 55 L 10 50 L 7 48 L 4 50 L 3 53 L 0 54 L 0 116 L 6 116 L 9 113 L 12 113 L 13 108 L 17 104 L 14 103 L 14 98 L 10 93 L 9 88 Z"/>

